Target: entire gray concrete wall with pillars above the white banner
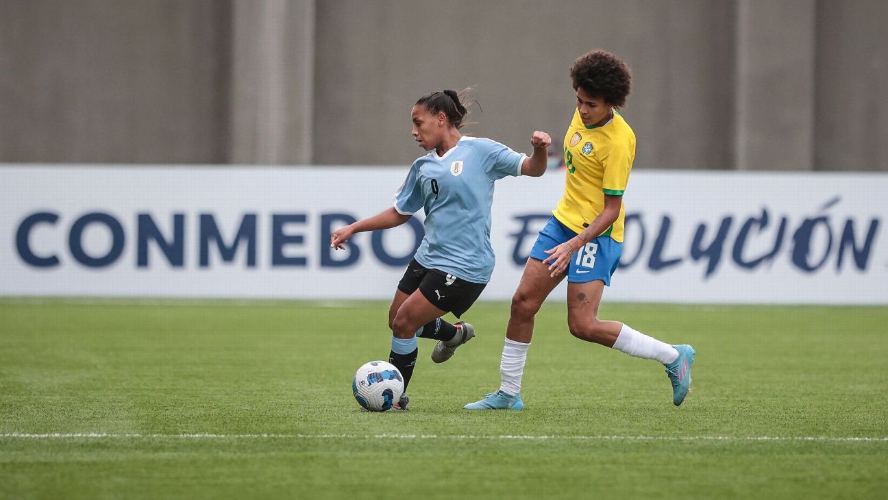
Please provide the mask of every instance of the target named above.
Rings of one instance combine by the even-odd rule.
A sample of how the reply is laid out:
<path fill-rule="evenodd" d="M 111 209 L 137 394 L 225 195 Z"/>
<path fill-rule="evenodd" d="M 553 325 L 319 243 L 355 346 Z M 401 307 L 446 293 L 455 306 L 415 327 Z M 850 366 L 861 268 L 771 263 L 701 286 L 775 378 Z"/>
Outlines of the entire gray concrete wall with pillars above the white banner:
<path fill-rule="evenodd" d="M 888 3 L 0 0 L 0 162 L 404 164 L 420 95 L 562 139 L 567 68 L 634 88 L 639 168 L 888 171 Z"/>

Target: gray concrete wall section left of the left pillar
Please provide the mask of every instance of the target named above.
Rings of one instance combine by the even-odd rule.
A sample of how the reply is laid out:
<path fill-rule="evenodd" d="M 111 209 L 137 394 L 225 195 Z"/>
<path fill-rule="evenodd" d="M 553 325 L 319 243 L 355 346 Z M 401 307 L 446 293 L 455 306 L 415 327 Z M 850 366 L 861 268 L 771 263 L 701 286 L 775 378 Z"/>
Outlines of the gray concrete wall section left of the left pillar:
<path fill-rule="evenodd" d="M 0 161 L 227 159 L 229 5 L 0 1 Z"/>

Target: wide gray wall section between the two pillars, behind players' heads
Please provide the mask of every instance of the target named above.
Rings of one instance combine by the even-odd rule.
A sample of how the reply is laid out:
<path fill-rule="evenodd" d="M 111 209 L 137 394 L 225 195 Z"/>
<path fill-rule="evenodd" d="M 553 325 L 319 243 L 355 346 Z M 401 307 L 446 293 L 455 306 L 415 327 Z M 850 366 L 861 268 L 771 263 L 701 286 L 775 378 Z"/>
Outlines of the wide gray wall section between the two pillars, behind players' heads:
<path fill-rule="evenodd" d="M 537 129 L 560 141 L 575 106 L 568 68 L 605 48 L 634 70 L 624 116 L 638 135 L 639 165 L 731 165 L 730 4 L 442 5 L 318 4 L 316 163 L 410 163 L 423 153 L 409 136 L 416 99 L 472 85 L 483 113 L 466 131 L 525 151 Z"/>

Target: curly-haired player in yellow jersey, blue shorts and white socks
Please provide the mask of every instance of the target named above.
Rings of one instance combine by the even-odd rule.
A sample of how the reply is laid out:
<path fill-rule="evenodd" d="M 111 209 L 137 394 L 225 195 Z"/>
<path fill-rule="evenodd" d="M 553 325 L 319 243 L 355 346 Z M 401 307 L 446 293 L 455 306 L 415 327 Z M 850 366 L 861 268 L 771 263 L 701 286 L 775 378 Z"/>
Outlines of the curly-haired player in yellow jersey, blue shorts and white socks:
<path fill-rule="evenodd" d="M 635 159 L 635 134 L 617 112 L 629 95 L 631 72 L 614 54 L 592 51 L 574 61 L 570 77 L 576 111 L 564 139 L 564 195 L 530 250 L 511 299 L 500 389 L 466 409 L 524 408 L 521 376 L 534 335 L 534 316 L 565 277 L 571 334 L 662 362 L 676 406 L 685 401 L 690 388 L 693 347 L 669 345 L 621 322 L 598 317 L 601 294 L 620 263 L 625 218 L 622 194 Z"/>

